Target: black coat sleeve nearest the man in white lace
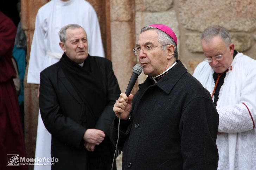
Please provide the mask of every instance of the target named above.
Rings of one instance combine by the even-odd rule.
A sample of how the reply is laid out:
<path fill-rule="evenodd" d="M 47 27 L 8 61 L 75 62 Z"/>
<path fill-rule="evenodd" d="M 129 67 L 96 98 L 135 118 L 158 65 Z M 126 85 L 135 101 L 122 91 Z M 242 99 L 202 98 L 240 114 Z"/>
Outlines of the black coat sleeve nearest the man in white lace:
<path fill-rule="evenodd" d="M 209 98 L 193 99 L 182 113 L 179 133 L 183 169 L 216 170 L 218 113 Z"/>

